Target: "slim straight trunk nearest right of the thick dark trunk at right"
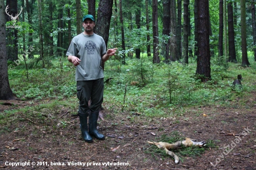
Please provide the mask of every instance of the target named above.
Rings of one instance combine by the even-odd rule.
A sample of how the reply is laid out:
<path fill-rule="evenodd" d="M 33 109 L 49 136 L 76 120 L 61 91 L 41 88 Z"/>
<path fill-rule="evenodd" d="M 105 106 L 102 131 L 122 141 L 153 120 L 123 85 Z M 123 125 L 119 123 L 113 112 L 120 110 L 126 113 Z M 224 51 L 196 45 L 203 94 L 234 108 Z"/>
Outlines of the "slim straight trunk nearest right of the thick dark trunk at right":
<path fill-rule="evenodd" d="M 223 0 L 219 2 L 219 57 L 223 56 Z"/>

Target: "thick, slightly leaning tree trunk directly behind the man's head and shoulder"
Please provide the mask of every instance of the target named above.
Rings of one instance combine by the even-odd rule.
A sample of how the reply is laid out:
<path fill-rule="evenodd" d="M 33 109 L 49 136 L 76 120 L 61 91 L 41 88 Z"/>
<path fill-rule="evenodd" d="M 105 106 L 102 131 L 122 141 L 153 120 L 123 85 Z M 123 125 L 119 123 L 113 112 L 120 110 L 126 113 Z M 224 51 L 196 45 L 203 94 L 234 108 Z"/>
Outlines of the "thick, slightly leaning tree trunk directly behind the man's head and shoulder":
<path fill-rule="evenodd" d="M 97 21 L 96 21 L 96 30 L 95 32 L 100 35 L 108 46 L 108 36 L 110 21 L 112 16 L 112 7 L 114 0 L 100 0 Z M 104 62 L 102 62 L 102 68 L 104 70 Z"/>

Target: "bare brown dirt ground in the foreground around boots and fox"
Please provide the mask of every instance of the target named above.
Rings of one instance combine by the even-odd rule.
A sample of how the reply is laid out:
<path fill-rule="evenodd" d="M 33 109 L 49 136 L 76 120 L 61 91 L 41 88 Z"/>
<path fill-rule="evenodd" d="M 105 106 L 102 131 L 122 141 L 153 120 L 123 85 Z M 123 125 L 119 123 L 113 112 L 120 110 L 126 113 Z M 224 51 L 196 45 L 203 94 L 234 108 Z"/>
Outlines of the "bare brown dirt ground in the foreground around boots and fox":
<path fill-rule="evenodd" d="M 246 105 L 240 106 L 239 100 L 246 100 Z M 0 105 L 0 112 L 29 105 L 28 101 L 11 103 L 16 106 Z M 24 118 L 22 113 L 12 115 L 13 119 L 22 121 L 10 122 L 7 130 L 0 133 L 0 169 L 256 170 L 256 93 L 237 98 L 229 107 L 190 108 L 177 118 L 136 115 L 131 120 L 127 112 L 114 114 L 105 109 L 99 131 L 106 139 L 94 138 L 90 144 L 81 139 L 79 118 L 71 116 L 69 109 L 61 108 L 58 115 L 46 116 L 43 122 Z M 58 118 L 66 121 L 60 122 Z M 4 127 L 0 125 L 1 130 Z M 198 141 L 211 139 L 216 147 L 205 150 L 200 157 L 182 157 L 178 164 L 171 157 L 157 154 L 153 157 L 146 152 L 151 147 L 147 141 L 158 142 L 156 137 L 172 131 Z M 11 166 L 12 163 L 20 165 Z"/>

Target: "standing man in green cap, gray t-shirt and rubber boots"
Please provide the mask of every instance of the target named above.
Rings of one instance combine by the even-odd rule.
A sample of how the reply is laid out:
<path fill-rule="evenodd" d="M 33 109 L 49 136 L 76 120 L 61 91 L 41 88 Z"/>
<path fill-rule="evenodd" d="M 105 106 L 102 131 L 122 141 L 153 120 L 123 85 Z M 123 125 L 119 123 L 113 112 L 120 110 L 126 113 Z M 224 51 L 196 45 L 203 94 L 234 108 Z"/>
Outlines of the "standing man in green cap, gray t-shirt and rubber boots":
<path fill-rule="evenodd" d="M 68 61 L 76 66 L 78 114 L 82 138 L 92 142 L 91 136 L 104 140 L 105 137 L 96 129 L 99 111 L 103 102 L 104 74 L 101 61 L 105 62 L 115 55 L 117 48 L 108 49 L 104 39 L 93 32 L 95 20 L 92 15 L 85 15 L 82 20 L 84 32 L 75 36 L 67 50 Z M 88 102 L 91 98 L 91 106 Z M 87 118 L 89 116 L 89 124 Z"/>

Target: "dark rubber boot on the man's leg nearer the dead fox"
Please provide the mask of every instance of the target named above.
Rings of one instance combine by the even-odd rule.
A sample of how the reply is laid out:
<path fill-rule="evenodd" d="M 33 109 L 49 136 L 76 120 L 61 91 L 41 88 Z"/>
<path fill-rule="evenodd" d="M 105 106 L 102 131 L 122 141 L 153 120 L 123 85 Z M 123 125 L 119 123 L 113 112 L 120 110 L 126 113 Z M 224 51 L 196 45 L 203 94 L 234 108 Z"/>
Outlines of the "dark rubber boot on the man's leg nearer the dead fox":
<path fill-rule="evenodd" d="M 91 112 L 89 115 L 89 134 L 96 137 L 99 140 L 104 140 L 105 137 L 97 131 L 97 120 L 99 117 L 99 111 Z"/>

